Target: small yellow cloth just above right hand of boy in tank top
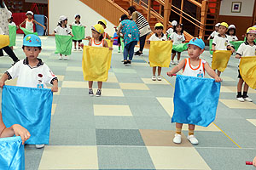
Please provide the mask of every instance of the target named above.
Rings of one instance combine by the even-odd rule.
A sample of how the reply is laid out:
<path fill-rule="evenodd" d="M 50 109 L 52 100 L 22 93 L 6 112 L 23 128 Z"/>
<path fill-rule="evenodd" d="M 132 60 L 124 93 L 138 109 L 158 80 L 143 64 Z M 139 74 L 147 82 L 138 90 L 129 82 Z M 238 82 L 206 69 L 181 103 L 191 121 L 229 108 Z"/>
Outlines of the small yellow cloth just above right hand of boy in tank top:
<path fill-rule="evenodd" d="M 230 60 L 232 52 L 230 50 L 217 50 L 212 54 L 212 69 L 223 72 Z"/>

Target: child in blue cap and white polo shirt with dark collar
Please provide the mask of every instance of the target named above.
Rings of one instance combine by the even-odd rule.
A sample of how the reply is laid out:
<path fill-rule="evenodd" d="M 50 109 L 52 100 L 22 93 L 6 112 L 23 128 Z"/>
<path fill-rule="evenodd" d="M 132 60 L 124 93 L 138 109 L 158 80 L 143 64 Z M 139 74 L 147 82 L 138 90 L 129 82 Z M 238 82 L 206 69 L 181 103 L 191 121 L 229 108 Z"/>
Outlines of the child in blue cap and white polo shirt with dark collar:
<path fill-rule="evenodd" d="M 9 70 L 5 71 L 0 79 L 0 88 L 3 88 L 7 80 L 17 77 L 16 86 L 28 88 L 47 88 L 46 83 L 52 84 L 51 91 L 58 91 L 58 79 L 55 74 L 50 71 L 49 67 L 38 59 L 41 53 L 41 39 L 36 35 L 26 35 L 23 39 L 23 52 L 26 59 L 21 59 Z M 44 147 L 44 144 L 36 144 L 37 148 Z"/>

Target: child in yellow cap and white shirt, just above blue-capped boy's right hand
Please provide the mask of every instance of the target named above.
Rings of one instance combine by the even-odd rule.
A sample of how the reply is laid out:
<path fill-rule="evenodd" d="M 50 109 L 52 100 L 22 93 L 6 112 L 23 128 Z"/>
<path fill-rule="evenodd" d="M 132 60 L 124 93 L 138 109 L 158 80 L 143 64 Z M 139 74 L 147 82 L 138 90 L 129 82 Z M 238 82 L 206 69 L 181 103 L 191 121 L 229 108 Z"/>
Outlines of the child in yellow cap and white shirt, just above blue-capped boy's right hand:
<path fill-rule="evenodd" d="M 218 26 L 218 36 L 215 36 L 212 41 L 212 51 L 216 50 L 228 50 L 230 49 L 232 53 L 236 50 L 231 47 L 231 44 L 228 40 L 226 32 L 228 31 L 229 25 L 226 22 L 222 22 Z M 218 76 L 220 76 L 220 71 L 218 71 Z"/>

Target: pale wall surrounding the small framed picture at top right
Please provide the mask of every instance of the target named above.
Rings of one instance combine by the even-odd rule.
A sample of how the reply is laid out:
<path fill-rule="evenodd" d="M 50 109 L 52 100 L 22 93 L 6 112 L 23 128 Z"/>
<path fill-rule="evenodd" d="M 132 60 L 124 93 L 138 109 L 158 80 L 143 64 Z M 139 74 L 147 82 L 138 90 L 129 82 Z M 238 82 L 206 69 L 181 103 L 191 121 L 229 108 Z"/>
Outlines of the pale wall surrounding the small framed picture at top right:
<path fill-rule="evenodd" d="M 241 2 L 241 13 L 231 13 L 232 2 Z M 220 3 L 220 15 L 231 16 L 253 16 L 253 7 L 255 0 L 222 0 Z"/>

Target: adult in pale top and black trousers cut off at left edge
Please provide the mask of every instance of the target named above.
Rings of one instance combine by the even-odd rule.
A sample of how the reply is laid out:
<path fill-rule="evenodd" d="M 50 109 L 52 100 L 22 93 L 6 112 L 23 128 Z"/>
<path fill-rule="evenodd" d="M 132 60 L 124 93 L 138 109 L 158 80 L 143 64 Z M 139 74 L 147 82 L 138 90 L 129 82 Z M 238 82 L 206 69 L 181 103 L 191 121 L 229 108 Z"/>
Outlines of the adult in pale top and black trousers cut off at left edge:
<path fill-rule="evenodd" d="M 3 0 L 0 0 L 0 35 L 9 35 L 9 18 L 11 18 L 10 13 L 8 12 L 8 9 L 3 3 Z M 6 54 L 9 54 L 9 56 L 14 60 L 15 63 L 19 61 L 19 59 L 16 57 L 15 53 L 9 46 L 0 49 L 0 56 L 3 56 L 3 50 Z"/>

